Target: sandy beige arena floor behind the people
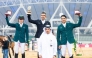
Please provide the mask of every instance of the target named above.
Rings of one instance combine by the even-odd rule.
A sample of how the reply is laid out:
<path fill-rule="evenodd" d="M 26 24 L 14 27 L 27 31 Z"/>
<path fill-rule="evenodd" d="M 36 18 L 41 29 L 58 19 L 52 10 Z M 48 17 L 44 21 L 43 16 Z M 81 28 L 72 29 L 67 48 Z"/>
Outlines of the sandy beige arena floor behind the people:
<path fill-rule="evenodd" d="M 26 51 L 26 58 L 37 58 L 37 52 L 36 51 Z M 82 54 L 82 56 L 76 56 L 75 52 L 73 51 L 74 58 L 92 58 L 92 47 L 86 47 L 86 48 L 77 48 L 76 54 Z M 0 58 L 2 57 L 2 49 L 0 49 Z M 12 57 L 13 58 L 13 57 Z M 19 58 L 21 58 L 21 54 L 19 53 Z M 66 53 L 66 58 L 68 58 L 68 53 Z"/>

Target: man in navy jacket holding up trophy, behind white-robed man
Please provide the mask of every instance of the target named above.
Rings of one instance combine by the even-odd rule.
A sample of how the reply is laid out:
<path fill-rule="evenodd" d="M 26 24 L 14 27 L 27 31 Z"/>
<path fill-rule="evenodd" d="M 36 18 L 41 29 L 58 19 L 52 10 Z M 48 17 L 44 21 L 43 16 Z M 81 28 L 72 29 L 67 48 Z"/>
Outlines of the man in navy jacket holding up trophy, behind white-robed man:
<path fill-rule="evenodd" d="M 34 19 L 31 18 L 32 14 L 30 12 L 28 12 L 27 16 L 28 16 L 28 21 L 30 23 L 35 24 L 36 27 L 37 27 L 35 38 L 37 40 L 37 46 L 38 46 L 39 38 L 40 38 L 40 36 L 43 32 L 43 28 L 46 24 L 50 24 L 50 22 L 46 21 L 46 13 L 45 12 L 42 12 L 41 13 L 41 19 L 37 19 L 37 20 L 34 20 Z M 32 41 L 32 43 L 34 43 L 34 42 Z M 32 50 L 34 50 L 34 46 L 32 46 Z"/>

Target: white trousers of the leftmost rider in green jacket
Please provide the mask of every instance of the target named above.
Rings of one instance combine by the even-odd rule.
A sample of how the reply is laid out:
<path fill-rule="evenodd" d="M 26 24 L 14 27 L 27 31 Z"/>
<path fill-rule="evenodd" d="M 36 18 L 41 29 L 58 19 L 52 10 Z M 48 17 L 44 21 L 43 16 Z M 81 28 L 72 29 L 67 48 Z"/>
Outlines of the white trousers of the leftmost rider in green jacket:
<path fill-rule="evenodd" d="M 25 52 L 25 43 L 20 43 L 19 41 L 18 42 L 15 42 L 14 52 L 16 54 L 18 54 L 19 48 L 21 50 L 21 54 L 23 54 Z"/>

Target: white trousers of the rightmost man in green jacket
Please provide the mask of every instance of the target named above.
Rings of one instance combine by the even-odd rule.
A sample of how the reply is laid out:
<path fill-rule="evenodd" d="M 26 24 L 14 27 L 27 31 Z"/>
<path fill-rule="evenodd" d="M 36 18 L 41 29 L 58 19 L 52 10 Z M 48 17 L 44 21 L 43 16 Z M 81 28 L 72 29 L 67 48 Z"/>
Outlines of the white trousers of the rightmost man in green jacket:
<path fill-rule="evenodd" d="M 68 54 L 71 57 L 72 56 L 72 44 L 70 44 L 68 41 L 66 45 L 62 45 L 62 48 L 61 48 L 62 56 L 66 55 L 66 48 L 68 49 Z"/>

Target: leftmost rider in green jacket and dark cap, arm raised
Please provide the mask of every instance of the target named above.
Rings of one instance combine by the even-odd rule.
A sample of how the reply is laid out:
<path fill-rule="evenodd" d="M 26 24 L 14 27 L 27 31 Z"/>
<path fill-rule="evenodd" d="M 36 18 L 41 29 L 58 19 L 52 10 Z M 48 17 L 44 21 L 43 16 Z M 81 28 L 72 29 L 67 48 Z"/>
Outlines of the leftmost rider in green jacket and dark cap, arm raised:
<path fill-rule="evenodd" d="M 24 24 L 24 16 L 18 17 L 18 23 L 10 23 L 8 19 L 8 14 L 6 14 L 6 22 L 8 26 L 14 27 L 16 29 L 15 36 L 14 36 L 14 52 L 15 58 L 18 58 L 19 47 L 21 50 L 22 58 L 25 58 L 25 44 L 28 44 L 29 39 L 29 31 L 28 25 Z M 25 39 L 26 38 L 26 39 Z"/>

